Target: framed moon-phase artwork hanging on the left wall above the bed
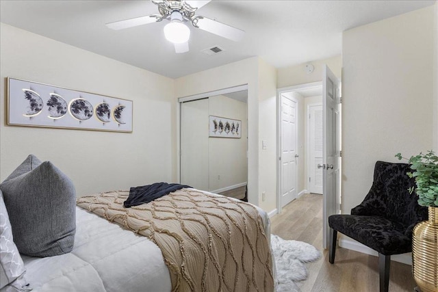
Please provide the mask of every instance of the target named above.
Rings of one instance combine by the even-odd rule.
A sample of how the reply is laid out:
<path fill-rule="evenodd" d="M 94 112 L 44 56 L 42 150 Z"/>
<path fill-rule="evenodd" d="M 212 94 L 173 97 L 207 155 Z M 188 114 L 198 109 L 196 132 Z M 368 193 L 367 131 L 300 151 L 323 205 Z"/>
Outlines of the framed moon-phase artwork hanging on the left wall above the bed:
<path fill-rule="evenodd" d="M 133 102 L 8 78 L 8 124 L 132 132 Z"/>

